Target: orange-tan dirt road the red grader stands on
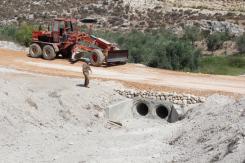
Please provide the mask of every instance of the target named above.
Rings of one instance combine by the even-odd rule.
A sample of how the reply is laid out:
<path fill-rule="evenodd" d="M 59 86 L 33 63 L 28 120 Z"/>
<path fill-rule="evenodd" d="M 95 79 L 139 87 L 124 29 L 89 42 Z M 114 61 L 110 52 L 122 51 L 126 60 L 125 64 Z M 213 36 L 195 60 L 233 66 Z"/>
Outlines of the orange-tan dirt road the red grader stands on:
<path fill-rule="evenodd" d="M 81 77 L 81 62 L 46 61 L 27 57 L 24 51 L 0 49 L 0 66 L 48 75 Z M 137 64 L 113 67 L 92 67 L 92 77 L 121 81 L 128 86 L 146 90 L 176 91 L 196 95 L 213 93 L 245 94 L 244 76 L 216 76 L 153 69 Z"/>

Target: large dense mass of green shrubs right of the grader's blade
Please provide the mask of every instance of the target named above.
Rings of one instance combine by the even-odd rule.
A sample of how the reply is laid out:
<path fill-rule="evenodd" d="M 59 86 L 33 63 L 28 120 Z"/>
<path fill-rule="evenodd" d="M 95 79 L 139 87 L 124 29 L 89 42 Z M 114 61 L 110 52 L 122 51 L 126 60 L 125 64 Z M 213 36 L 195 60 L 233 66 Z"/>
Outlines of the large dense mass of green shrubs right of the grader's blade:
<path fill-rule="evenodd" d="M 192 46 L 194 38 L 190 34 L 186 39 L 179 39 L 172 32 L 160 29 L 144 33 L 96 31 L 95 35 L 116 42 L 121 49 L 128 49 L 129 61 L 133 63 L 171 70 L 193 71 L 198 68 L 200 51 Z"/>

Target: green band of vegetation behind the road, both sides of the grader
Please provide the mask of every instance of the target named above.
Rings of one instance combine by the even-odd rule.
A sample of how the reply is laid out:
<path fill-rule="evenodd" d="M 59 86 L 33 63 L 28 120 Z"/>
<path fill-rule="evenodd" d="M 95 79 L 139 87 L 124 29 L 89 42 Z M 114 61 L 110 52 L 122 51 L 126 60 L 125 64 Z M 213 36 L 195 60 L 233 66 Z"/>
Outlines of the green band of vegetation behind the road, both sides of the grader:
<path fill-rule="evenodd" d="M 18 42 L 29 46 L 34 26 L 22 24 L 0 28 L 0 39 Z M 121 49 L 129 50 L 129 62 L 142 63 L 150 67 L 178 71 L 203 72 L 212 74 L 239 75 L 245 73 L 243 55 L 203 57 L 202 50 L 195 41 L 206 40 L 208 50 L 222 48 L 224 41 L 236 41 L 240 53 L 244 52 L 245 35 L 238 38 L 227 32 L 207 34 L 197 27 L 188 27 L 179 36 L 166 29 L 147 32 L 130 31 L 128 33 L 95 31 L 98 37 L 115 42 Z"/>

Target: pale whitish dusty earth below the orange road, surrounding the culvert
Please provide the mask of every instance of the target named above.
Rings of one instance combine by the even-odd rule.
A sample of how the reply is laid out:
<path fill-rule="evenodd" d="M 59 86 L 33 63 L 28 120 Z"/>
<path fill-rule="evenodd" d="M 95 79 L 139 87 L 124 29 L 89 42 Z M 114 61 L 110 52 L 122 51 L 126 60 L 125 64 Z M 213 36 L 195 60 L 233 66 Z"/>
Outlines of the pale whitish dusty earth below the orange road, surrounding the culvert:
<path fill-rule="evenodd" d="M 214 95 L 174 124 L 104 118 L 122 85 L 0 68 L 2 162 L 244 162 L 245 99 Z"/>

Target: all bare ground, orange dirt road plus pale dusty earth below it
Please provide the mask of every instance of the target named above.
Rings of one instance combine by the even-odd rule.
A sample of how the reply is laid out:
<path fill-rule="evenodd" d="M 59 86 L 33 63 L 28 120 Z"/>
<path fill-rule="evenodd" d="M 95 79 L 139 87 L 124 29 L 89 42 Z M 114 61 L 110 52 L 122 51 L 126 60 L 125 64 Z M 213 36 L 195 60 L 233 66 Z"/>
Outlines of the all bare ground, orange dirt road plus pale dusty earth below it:
<path fill-rule="evenodd" d="M 0 162 L 245 162 L 244 77 L 129 64 L 93 67 L 88 89 L 79 63 L 6 49 L 0 57 Z M 125 86 L 240 98 L 216 94 L 177 123 L 134 118 L 120 127 L 108 123 L 105 109 L 125 99 L 114 91 Z"/>

